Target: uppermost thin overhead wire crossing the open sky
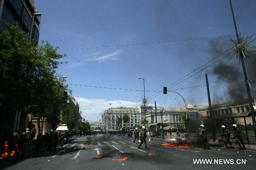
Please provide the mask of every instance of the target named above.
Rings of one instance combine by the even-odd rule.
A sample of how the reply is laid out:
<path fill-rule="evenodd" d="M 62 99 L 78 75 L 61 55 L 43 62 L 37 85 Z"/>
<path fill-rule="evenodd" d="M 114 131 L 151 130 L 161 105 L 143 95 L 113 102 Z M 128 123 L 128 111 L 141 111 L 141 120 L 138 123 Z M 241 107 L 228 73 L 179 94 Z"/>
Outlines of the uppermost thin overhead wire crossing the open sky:
<path fill-rule="evenodd" d="M 192 40 L 207 40 L 207 39 L 226 38 L 226 37 L 236 37 L 236 36 L 235 35 L 231 35 L 231 36 L 194 38 L 194 39 L 172 40 L 172 41 L 140 42 L 140 43 L 133 43 L 133 44 L 106 45 L 106 46 L 95 46 L 95 47 L 84 47 L 84 48 L 71 48 L 71 49 L 63 49 L 63 50 L 59 49 L 58 51 L 84 50 L 84 49 L 93 49 L 93 48 L 120 47 L 120 46 L 129 46 L 129 45 L 157 44 L 157 43 L 192 41 Z"/>

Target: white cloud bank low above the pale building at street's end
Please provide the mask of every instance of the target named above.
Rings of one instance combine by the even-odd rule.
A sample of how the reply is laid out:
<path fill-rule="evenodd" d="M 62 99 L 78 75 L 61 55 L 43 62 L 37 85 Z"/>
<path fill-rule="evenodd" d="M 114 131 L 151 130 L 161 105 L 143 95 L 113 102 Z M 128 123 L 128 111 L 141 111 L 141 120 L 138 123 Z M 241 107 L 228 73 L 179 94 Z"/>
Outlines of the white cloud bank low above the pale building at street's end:
<path fill-rule="evenodd" d="M 124 100 L 107 100 L 107 99 L 86 99 L 75 97 L 81 108 L 81 116 L 89 122 L 98 122 L 102 113 L 108 108 L 120 107 L 121 102 L 123 107 L 137 107 L 140 102 L 129 102 Z M 109 104 L 112 105 L 109 105 Z"/>

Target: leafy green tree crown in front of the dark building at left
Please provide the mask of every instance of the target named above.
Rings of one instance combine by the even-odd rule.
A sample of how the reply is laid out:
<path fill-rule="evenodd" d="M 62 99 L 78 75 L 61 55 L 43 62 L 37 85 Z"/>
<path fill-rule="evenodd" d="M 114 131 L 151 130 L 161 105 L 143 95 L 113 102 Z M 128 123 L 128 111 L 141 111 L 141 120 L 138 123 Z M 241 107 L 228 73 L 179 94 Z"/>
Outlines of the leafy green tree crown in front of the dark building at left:
<path fill-rule="evenodd" d="M 65 80 L 56 74 L 61 64 L 59 59 L 65 55 L 57 54 L 58 48 L 49 42 L 43 41 L 41 45 L 28 42 L 28 35 L 19 31 L 18 23 L 4 24 L 7 30 L 0 33 L 1 109 L 35 113 L 39 130 L 42 118 L 55 127 L 66 103 Z"/>

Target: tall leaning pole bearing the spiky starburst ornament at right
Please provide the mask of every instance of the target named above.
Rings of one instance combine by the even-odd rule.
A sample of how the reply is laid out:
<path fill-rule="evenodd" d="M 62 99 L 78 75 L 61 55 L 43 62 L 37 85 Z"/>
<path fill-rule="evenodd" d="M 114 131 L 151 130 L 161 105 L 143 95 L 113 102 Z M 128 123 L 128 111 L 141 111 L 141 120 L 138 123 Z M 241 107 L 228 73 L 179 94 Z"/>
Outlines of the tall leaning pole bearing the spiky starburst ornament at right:
<path fill-rule="evenodd" d="M 239 38 L 237 27 L 236 27 L 236 20 L 235 20 L 235 15 L 234 15 L 231 0 L 230 0 L 230 8 L 231 8 L 231 12 L 232 12 L 232 16 L 233 16 L 233 22 L 234 22 L 234 26 L 235 26 L 235 30 L 236 30 L 237 42 L 240 43 L 240 38 Z M 245 65 L 244 65 L 244 57 L 243 57 L 243 54 L 242 54 L 241 51 L 240 51 L 239 55 L 240 55 L 240 59 L 241 59 L 241 63 L 242 63 L 243 71 L 244 71 L 245 85 L 246 85 L 248 100 L 249 100 L 249 104 L 250 104 L 250 110 L 251 110 L 251 113 L 252 113 L 254 136 L 255 136 L 255 139 L 256 139 L 256 129 L 255 129 L 256 121 L 255 121 L 255 113 L 254 113 L 254 108 L 253 108 L 253 101 L 252 101 L 252 98 L 251 98 L 251 95 L 250 95 L 250 87 L 249 87 L 249 84 L 248 84 L 247 73 L 246 73 L 246 69 L 245 69 Z"/>

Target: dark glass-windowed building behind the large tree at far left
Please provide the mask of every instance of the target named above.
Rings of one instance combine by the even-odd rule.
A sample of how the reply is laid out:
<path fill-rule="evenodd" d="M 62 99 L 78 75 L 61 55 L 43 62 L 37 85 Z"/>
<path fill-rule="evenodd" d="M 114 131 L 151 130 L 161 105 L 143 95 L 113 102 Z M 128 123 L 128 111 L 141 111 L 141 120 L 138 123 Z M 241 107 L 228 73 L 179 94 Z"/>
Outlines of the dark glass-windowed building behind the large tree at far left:
<path fill-rule="evenodd" d="M 41 16 L 32 17 L 35 13 L 39 11 L 34 6 L 34 0 L 0 0 L 0 28 L 6 29 L 3 24 L 4 20 L 11 24 L 18 21 L 18 27 L 21 29 L 23 25 L 22 30 L 29 34 L 29 40 L 35 39 L 38 43 Z M 23 24 L 21 24 L 22 21 Z M 14 132 L 25 131 L 28 118 L 29 115 L 25 110 L 13 109 L 10 114 L 4 114 L 3 119 L 0 120 L 0 134 L 2 134 L 2 127 Z"/>

